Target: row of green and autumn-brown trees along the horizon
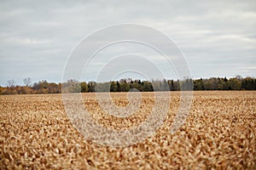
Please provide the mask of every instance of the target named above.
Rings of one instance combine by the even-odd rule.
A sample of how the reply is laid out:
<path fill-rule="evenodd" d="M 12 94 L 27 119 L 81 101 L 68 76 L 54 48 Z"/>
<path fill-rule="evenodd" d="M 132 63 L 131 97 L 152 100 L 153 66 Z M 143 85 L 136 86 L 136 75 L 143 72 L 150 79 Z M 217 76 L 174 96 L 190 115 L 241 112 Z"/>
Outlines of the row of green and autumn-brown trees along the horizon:
<path fill-rule="evenodd" d="M 63 93 L 93 93 L 93 92 L 128 92 L 133 88 L 141 92 L 180 91 L 180 90 L 256 90 L 256 79 L 253 77 L 233 78 L 212 77 L 207 79 L 185 79 L 184 81 L 155 80 L 141 81 L 121 79 L 112 82 L 78 82 L 69 80 L 63 83 L 39 81 L 30 84 L 30 79 L 24 79 L 25 86 L 15 85 L 9 81 L 9 86 L 0 87 L 0 94 L 60 94 Z"/>

